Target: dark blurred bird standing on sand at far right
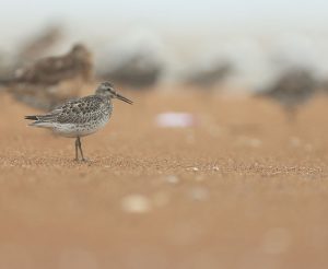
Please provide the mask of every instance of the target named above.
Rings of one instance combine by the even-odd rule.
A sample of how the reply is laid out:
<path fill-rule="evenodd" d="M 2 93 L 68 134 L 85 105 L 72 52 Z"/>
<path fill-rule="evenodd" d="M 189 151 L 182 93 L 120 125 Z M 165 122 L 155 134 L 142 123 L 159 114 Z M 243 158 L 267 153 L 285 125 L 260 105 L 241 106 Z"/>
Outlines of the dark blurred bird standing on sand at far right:
<path fill-rule="evenodd" d="M 256 95 L 276 100 L 286 112 L 289 120 L 294 121 L 296 109 L 314 96 L 316 89 L 316 80 L 309 71 L 293 69 Z"/>

